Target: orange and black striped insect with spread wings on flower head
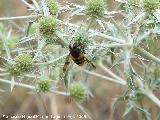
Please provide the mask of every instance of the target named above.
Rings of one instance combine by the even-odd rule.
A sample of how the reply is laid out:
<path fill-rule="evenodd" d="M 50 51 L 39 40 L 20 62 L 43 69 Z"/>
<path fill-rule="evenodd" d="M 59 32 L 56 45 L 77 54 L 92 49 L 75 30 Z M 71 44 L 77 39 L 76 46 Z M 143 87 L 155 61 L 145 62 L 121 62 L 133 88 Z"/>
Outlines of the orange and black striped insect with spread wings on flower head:
<path fill-rule="evenodd" d="M 95 68 L 93 63 L 85 57 L 84 55 L 85 50 L 82 44 L 76 43 L 76 42 L 73 45 L 69 44 L 69 51 L 70 53 L 66 58 L 66 61 L 63 67 L 63 72 L 66 71 L 67 66 L 70 64 L 71 60 L 73 60 L 74 63 L 76 63 L 79 66 L 83 66 L 85 62 L 88 62 L 89 64 L 91 64 L 93 68 Z"/>

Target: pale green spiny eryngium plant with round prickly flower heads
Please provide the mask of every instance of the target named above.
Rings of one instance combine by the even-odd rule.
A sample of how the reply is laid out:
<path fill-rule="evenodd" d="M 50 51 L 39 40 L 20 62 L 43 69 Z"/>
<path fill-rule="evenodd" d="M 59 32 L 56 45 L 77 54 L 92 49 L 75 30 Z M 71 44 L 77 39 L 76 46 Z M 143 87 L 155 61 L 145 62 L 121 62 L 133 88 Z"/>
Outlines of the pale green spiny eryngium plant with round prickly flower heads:
<path fill-rule="evenodd" d="M 123 117 L 137 111 L 141 119 L 152 119 L 143 100 L 149 98 L 160 109 L 160 98 L 156 96 L 160 89 L 159 0 L 116 0 L 115 9 L 110 11 L 103 0 L 86 0 L 83 5 L 54 0 L 32 0 L 31 5 L 21 1 L 31 15 L 0 18 L 2 23 L 16 19 L 28 22 L 24 22 L 26 30 L 17 35 L 21 38 L 14 44 L 10 39 L 15 34 L 0 24 L 1 82 L 11 84 L 11 90 L 16 85 L 70 96 L 79 106 L 91 95 L 87 87 L 90 75 L 127 88 L 113 102 L 113 110 L 117 103 L 125 101 Z M 69 45 L 75 42 L 84 48 L 80 52 L 81 57 L 85 56 L 80 61 L 84 62 L 82 66 L 70 56 Z M 93 69 L 91 63 L 107 75 Z M 34 78 L 30 79 L 31 84 L 24 83 L 27 77 Z M 59 86 L 62 81 L 64 84 Z M 79 107 L 86 113 L 83 106 Z"/>

